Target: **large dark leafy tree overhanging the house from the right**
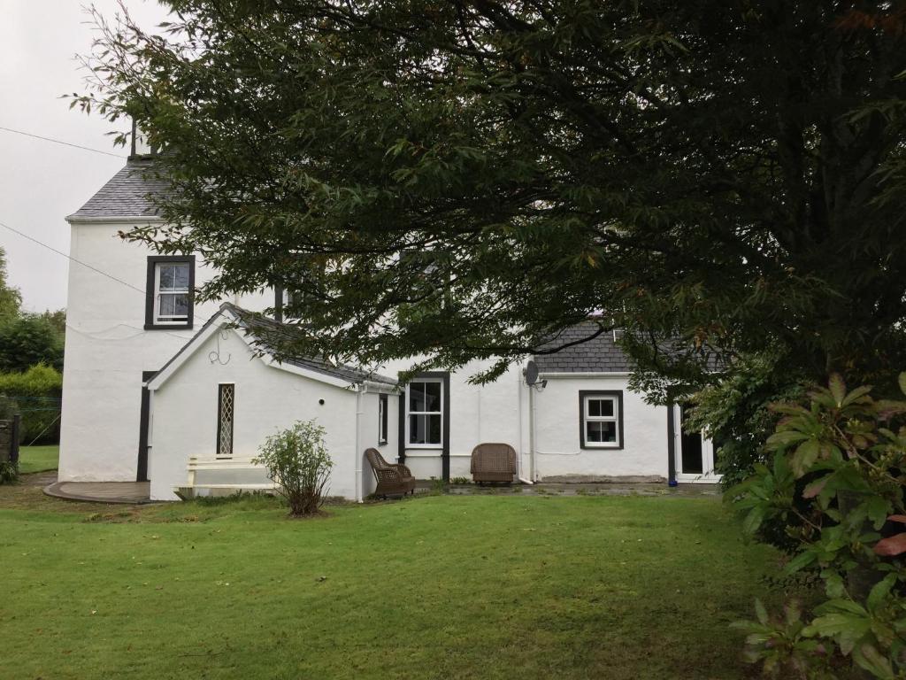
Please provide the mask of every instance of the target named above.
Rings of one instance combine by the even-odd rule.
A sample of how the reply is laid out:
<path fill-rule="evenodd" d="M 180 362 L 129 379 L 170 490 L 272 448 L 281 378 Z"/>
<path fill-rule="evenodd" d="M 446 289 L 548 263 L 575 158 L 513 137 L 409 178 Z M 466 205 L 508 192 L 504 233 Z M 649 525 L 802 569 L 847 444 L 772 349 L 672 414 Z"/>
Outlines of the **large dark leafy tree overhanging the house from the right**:
<path fill-rule="evenodd" d="M 294 290 L 288 352 L 499 371 L 597 313 L 686 379 L 906 365 L 902 2 L 167 4 L 77 101 L 166 149 L 127 237 Z"/>

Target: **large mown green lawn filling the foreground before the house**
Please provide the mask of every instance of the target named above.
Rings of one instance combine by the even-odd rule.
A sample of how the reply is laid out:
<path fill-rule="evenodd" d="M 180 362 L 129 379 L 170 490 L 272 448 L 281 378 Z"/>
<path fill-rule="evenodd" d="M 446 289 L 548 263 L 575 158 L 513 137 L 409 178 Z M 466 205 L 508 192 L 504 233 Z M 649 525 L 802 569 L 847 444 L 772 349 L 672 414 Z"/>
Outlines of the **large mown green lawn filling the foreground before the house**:
<path fill-rule="evenodd" d="M 2 678 L 739 678 L 776 554 L 707 498 L 434 496 L 287 520 L 0 487 Z M 768 603 L 776 603 L 776 593 Z"/>

